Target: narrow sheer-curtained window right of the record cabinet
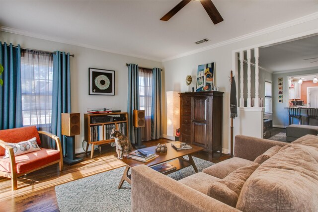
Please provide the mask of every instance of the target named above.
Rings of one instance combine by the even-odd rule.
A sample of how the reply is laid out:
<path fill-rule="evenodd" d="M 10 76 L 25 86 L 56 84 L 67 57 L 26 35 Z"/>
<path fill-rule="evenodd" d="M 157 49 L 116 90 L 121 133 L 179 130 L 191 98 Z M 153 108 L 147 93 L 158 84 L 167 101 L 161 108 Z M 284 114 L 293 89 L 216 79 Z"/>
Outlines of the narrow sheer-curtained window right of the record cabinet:
<path fill-rule="evenodd" d="M 151 111 L 153 93 L 153 70 L 139 67 L 139 107 L 145 110 L 145 127 L 142 131 L 142 141 L 151 140 Z"/>

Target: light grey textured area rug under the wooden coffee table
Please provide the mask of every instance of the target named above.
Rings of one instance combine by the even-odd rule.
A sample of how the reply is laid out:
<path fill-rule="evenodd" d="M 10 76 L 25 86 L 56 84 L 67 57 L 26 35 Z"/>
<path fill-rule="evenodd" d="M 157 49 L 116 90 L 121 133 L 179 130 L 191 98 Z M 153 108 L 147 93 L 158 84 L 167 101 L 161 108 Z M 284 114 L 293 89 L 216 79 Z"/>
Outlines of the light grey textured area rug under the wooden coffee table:
<path fill-rule="evenodd" d="M 193 157 L 201 172 L 214 163 Z M 56 198 L 61 212 L 130 212 L 131 186 L 126 181 L 118 189 L 125 167 L 85 177 L 55 187 Z M 179 180 L 194 174 L 192 166 L 167 176 Z"/>

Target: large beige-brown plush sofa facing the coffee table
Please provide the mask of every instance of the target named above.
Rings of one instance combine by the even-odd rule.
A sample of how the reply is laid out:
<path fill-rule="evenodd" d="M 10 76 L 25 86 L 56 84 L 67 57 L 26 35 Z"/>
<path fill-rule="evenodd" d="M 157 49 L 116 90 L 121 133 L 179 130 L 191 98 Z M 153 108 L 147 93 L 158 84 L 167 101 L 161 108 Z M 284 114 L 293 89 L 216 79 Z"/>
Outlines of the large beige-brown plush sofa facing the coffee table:
<path fill-rule="evenodd" d="M 236 136 L 235 157 L 179 181 L 132 168 L 132 211 L 318 211 L 318 136 Z"/>

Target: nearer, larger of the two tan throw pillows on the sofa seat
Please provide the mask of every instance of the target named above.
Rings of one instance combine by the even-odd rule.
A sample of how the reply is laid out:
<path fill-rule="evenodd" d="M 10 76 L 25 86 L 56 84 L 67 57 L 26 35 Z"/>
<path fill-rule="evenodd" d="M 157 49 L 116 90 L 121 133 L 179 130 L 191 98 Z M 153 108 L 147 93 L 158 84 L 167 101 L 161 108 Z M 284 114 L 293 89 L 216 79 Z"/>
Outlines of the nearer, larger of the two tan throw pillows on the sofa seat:
<path fill-rule="evenodd" d="M 209 187 L 208 195 L 235 208 L 245 181 L 258 166 L 258 163 L 252 162 L 233 171 L 224 179 L 212 183 Z"/>

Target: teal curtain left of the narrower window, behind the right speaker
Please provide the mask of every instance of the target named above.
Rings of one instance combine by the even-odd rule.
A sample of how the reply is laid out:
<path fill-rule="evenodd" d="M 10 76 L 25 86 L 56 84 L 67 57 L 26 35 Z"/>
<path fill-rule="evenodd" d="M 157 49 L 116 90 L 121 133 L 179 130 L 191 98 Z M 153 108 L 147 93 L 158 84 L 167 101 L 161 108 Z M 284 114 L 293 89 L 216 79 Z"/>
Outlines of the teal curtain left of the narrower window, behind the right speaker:
<path fill-rule="evenodd" d="M 132 143 L 135 141 L 134 128 L 134 110 L 139 110 L 139 68 L 136 64 L 128 65 L 128 125 L 129 125 L 129 139 Z M 137 135 L 136 135 L 137 136 Z"/>

